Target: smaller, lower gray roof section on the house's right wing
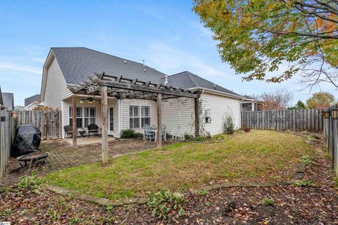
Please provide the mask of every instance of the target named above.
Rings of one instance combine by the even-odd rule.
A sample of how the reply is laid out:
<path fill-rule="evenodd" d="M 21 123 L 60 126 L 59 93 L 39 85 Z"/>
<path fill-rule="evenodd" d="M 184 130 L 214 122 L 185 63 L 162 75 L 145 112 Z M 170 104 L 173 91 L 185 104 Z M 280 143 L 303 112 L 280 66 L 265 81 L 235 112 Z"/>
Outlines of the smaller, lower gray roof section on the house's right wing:
<path fill-rule="evenodd" d="M 207 79 L 194 75 L 192 72 L 189 71 L 184 71 L 169 76 L 168 84 L 186 89 L 201 88 L 209 89 L 211 91 L 221 91 L 225 94 L 242 97 L 239 94 L 234 93 L 233 91 L 225 89 L 223 86 L 219 86 L 217 84 L 214 84 L 213 82 L 209 82 Z"/>

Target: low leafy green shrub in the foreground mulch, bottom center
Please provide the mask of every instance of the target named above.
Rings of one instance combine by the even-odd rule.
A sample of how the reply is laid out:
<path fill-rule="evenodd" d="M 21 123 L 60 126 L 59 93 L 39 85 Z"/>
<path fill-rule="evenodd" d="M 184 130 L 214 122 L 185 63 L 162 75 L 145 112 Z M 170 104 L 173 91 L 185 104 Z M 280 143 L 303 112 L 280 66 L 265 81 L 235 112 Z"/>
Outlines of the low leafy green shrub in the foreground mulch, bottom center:
<path fill-rule="evenodd" d="M 184 214 L 183 200 L 183 195 L 180 193 L 171 193 L 163 188 L 161 191 L 151 193 L 148 206 L 151 207 L 153 216 L 175 221 Z"/>

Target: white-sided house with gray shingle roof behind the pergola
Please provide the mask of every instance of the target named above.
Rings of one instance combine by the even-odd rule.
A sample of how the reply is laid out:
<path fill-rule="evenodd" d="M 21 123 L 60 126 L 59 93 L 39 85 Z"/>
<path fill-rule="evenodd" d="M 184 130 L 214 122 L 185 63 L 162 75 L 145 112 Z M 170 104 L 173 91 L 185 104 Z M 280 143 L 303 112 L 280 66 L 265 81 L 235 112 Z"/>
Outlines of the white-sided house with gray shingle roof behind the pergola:
<path fill-rule="evenodd" d="M 41 104 L 61 109 L 63 126 L 73 124 L 74 94 L 71 90 L 79 84 L 83 86 L 85 80 L 98 72 L 135 82 L 142 80 L 149 82 L 148 85 L 163 84 L 179 90 L 199 90 L 204 129 L 211 135 L 223 132 L 227 115 L 232 116 L 237 128 L 241 126 L 240 103 L 244 100 L 243 96 L 192 72 L 168 76 L 144 63 L 84 47 L 51 48 L 43 68 Z M 101 127 L 101 96 L 77 94 L 76 105 L 78 128 L 86 129 L 88 124 Z M 108 90 L 108 135 L 118 137 L 123 129 L 142 131 L 144 124 L 156 125 L 157 107 L 156 100 L 111 96 Z M 180 125 L 185 128 L 186 134 L 194 135 L 194 116 L 193 98 L 162 98 L 161 122 L 169 134 Z"/>

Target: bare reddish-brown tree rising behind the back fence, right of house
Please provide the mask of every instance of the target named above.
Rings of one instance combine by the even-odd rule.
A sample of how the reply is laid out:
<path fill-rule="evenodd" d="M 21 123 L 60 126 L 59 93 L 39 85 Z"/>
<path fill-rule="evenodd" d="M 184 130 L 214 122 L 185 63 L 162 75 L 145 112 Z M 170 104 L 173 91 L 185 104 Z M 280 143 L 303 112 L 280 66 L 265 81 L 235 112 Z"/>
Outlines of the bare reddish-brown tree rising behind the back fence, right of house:
<path fill-rule="evenodd" d="M 263 101 L 263 110 L 282 110 L 291 103 L 294 94 L 286 88 L 276 89 L 274 92 L 264 92 L 260 96 Z"/>

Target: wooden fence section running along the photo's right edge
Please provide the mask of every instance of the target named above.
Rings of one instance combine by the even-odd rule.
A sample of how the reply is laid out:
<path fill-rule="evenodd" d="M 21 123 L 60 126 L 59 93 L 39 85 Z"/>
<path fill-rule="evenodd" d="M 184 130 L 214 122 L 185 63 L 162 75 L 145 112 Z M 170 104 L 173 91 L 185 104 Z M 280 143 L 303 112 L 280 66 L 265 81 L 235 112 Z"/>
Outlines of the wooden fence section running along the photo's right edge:
<path fill-rule="evenodd" d="M 334 172 L 338 176 L 338 118 L 333 119 L 332 113 L 324 118 L 324 136 L 327 141 L 327 151 L 332 160 Z"/>

